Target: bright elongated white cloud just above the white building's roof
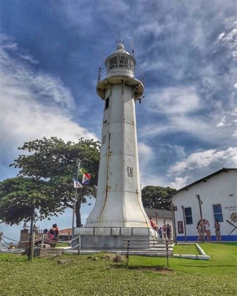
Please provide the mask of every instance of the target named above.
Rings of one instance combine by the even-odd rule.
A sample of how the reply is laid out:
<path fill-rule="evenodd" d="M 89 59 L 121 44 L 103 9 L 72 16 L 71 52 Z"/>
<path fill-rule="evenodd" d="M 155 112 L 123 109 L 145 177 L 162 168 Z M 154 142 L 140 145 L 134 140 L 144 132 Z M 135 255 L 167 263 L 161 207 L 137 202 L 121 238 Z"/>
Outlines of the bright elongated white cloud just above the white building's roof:
<path fill-rule="evenodd" d="M 168 172 L 180 174 L 187 170 L 207 167 L 212 163 L 219 163 L 222 166 L 234 167 L 237 165 L 237 147 L 228 147 L 225 150 L 209 149 L 191 153 L 184 160 L 171 165 Z"/>

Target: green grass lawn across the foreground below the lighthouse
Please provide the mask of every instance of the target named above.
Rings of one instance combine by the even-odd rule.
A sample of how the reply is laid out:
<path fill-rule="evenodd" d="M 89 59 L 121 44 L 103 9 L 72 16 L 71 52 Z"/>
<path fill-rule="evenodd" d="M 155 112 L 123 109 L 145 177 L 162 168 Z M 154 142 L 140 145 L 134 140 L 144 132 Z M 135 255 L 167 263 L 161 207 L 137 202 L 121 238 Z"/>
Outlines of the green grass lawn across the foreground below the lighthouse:
<path fill-rule="evenodd" d="M 1 295 L 236 295 L 237 244 L 202 243 L 209 261 L 169 258 L 169 273 L 147 267 L 165 265 L 166 258 L 129 256 L 125 262 L 102 259 L 102 253 L 62 255 L 28 262 L 26 256 L 0 254 Z M 116 268 L 119 267 L 119 268 Z M 143 269 L 134 269 L 141 267 Z"/>

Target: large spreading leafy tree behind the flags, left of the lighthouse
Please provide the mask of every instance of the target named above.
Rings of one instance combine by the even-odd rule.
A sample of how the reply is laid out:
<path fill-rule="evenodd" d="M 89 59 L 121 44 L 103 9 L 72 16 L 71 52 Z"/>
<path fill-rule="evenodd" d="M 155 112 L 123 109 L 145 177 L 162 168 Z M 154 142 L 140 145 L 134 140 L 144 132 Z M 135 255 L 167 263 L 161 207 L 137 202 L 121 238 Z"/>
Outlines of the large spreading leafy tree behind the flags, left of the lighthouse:
<path fill-rule="evenodd" d="M 28 153 L 26 155 L 19 155 L 11 165 L 19 168 L 19 188 L 20 186 L 25 188 L 27 188 L 28 185 L 32 187 L 35 186 L 32 192 L 34 192 L 34 196 L 37 199 L 35 203 L 35 208 L 38 209 L 38 211 L 36 211 L 37 218 L 56 215 L 57 213 L 63 212 L 66 207 L 72 208 L 75 197 L 72 177 L 76 177 L 77 161 L 78 159 L 81 160 L 80 167 L 83 167 L 90 173 L 91 181 L 89 185 L 84 185 L 83 188 L 77 190 L 75 216 L 76 226 L 80 226 L 80 205 L 86 202 L 86 196 L 95 197 L 96 194 L 100 149 L 99 142 L 93 139 L 80 138 L 78 142 L 74 143 L 70 141 L 64 142 L 57 137 L 43 137 L 42 139 L 25 142 L 23 146 L 18 149 Z M 7 180 L 3 182 L 6 181 Z M 12 185 L 14 181 L 15 180 L 10 179 L 8 183 Z M 22 182 L 22 184 L 20 184 L 20 182 Z M 10 204 L 13 205 L 15 203 L 16 205 L 17 203 L 22 207 L 25 205 L 25 208 L 27 208 L 28 201 L 24 202 L 24 199 L 21 198 L 22 194 L 18 194 L 20 191 L 18 188 L 16 188 L 15 191 L 7 191 L 6 183 L 1 184 L 1 186 L 3 186 L 4 190 L 1 189 L 0 192 L 0 219 L 4 220 L 6 223 L 11 223 L 9 220 L 11 216 L 10 211 L 5 211 L 5 215 L 2 216 L 2 206 L 4 206 L 5 202 L 9 202 L 9 198 L 14 195 L 15 198 L 11 200 Z M 41 191 L 42 189 L 43 193 Z M 25 192 L 23 194 L 25 194 Z M 31 194 L 26 194 L 25 196 L 27 197 L 26 200 L 32 199 Z M 24 213 L 23 210 L 21 212 L 22 215 L 18 215 L 18 218 L 15 220 L 16 222 L 13 223 L 19 223 L 20 219 L 26 218 L 26 213 Z M 27 219 L 29 219 L 29 216 L 30 213 Z"/>

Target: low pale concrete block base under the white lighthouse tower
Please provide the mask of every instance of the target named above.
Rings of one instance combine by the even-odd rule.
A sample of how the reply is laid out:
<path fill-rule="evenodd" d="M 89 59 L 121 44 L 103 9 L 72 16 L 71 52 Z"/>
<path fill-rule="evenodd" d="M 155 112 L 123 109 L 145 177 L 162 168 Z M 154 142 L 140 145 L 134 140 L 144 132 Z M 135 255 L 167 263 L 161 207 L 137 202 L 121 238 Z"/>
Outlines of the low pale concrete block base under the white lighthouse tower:
<path fill-rule="evenodd" d="M 151 228 L 135 227 L 77 227 L 74 234 L 80 234 L 81 249 L 120 249 L 124 248 L 124 240 L 149 240 L 157 236 Z M 76 244 L 74 241 L 73 245 Z"/>

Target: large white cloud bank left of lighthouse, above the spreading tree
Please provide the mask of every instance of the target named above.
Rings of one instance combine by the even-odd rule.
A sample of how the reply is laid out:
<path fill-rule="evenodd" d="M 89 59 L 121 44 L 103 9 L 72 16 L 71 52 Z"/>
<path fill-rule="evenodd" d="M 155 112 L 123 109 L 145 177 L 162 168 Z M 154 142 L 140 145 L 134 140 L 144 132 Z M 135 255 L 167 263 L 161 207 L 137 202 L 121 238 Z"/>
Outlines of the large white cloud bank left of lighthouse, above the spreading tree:
<path fill-rule="evenodd" d="M 72 121 L 70 107 L 74 106 L 74 99 L 60 78 L 33 70 L 32 61 L 22 61 L 16 47 L 14 55 L 6 48 L 0 51 L 2 152 L 7 150 L 8 157 L 13 159 L 17 146 L 42 136 L 96 139 L 93 133 Z"/>

